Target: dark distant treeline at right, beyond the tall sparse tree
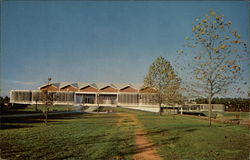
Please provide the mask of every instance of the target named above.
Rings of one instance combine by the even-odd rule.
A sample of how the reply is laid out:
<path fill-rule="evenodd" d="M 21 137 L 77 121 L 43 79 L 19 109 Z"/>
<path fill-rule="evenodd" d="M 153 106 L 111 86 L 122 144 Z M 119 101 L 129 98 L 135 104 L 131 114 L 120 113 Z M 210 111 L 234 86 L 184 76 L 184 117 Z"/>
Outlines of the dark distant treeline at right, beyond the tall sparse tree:
<path fill-rule="evenodd" d="M 206 98 L 195 99 L 196 103 L 207 104 L 208 100 Z M 224 104 L 227 106 L 227 111 L 249 111 L 250 99 L 249 98 L 214 98 L 212 104 Z"/>

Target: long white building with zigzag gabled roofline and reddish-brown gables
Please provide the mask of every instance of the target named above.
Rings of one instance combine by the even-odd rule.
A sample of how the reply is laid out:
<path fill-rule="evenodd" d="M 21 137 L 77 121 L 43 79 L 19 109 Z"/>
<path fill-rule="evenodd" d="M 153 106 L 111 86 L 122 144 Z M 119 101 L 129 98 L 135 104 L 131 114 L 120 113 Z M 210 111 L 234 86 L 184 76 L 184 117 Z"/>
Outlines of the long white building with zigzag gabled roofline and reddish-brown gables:
<path fill-rule="evenodd" d="M 140 84 L 52 83 L 38 90 L 11 90 L 10 103 L 42 104 L 42 91 L 54 93 L 54 105 L 157 107 L 155 90 Z"/>

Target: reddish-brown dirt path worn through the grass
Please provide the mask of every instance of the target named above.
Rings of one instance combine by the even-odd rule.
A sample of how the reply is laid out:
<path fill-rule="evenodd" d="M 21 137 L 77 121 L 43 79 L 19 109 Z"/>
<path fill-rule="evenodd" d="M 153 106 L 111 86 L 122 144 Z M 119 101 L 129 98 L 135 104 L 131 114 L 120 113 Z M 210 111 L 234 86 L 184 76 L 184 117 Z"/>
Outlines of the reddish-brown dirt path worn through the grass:
<path fill-rule="evenodd" d="M 139 122 L 135 115 L 129 113 L 118 113 L 120 119 L 117 125 L 121 126 L 127 121 L 126 124 L 136 126 L 135 129 L 135 144 L 136 150 L 134 152 L 134 160 L 161 160 L 162 158 L 157 154 L 156 146 L 150 143 L 145 132 L 143 125 Z"/>

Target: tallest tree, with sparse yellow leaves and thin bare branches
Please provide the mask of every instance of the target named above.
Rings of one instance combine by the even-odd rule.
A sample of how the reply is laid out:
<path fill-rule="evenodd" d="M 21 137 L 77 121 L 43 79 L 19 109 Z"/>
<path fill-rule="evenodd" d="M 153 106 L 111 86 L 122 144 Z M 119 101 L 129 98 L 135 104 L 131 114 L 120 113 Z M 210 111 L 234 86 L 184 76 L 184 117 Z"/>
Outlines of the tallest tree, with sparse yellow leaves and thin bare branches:
<path fill-rule="evenodd" d="M 186 38 L 187 46 L 196 51 L 192 64 L 195 87 L 208 99 L 210 126 L 213 97 L 226 94 L 229 86 L 242 82 L 241 65 L 247 57 L 247 45 L 231 24 L 224 15 L 209 11 L 193 23 L 194 38 Z"/>

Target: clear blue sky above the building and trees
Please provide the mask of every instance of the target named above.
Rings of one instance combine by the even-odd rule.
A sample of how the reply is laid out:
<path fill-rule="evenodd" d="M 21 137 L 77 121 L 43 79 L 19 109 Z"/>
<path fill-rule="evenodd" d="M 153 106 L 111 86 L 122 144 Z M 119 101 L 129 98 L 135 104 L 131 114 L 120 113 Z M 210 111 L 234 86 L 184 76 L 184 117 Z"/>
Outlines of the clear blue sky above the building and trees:
<path fill-rule="evenodd" d="M 173 63 L 192 22 L 210 9 L 224 14 L 249 41 L 248 5 L 1 1 L 1 95 L 36 89 L 48 77 L 53 82 L 142 83 L 158 56 Z"/>

